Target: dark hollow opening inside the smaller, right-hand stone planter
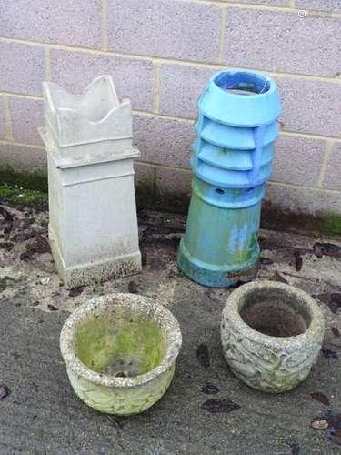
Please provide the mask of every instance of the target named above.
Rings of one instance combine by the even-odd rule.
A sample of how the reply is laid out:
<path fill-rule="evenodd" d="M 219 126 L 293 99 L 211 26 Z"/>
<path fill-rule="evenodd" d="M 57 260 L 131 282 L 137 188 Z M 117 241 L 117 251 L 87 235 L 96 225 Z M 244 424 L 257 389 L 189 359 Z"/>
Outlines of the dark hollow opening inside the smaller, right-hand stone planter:
<path fill-rule="evenodd" d="M 311 322 L 304 303 L 278 289 L 250 292 L 240 316 L 249 327 L 270 337 L 295 337 Z"/>

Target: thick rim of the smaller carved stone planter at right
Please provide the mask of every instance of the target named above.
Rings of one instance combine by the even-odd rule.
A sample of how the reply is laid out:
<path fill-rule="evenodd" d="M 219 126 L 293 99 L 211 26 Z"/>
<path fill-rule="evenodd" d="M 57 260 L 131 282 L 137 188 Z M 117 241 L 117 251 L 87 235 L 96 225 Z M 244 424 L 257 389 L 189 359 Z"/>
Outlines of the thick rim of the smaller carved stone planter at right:
<path fill-rule="evenodd" d="M 273 337 L 259 332 L 256 329 L 253 329 L 242 319 L 237 308 L 237 302 L 255 290 L 269 288 L 284 291 L 287 295 L 292 296 L 293 298 L 306 301 L 307 309 L 311 316 L 311 322 L 303 333 L 291 337 Z M 325 319 L 322 310 L 318 307 L 314 298 L 312 298 L 305 291 L 296 288 L 295 286 L 270 280 L 253 281 L 242 285 L 240 288 L 236 288 L 236 290 L 234 290 L 226 299 L 226 306 L 223 309 L 223 314 L 228 316 L 228 319 L 233 319 L 234 324 L 238 329 L 247 329 L 248 331 L 251 331 L 252 339 L 254 341 L 266 341 L 266 344 L 273 347 L 278 347 L 279 349 L 283 349 L 286 345 L 289 347 L 292 345 L 293 340 L 298 341 L 299 339 L 314 337 L 316 335 L 316 332 L 318 332 L 320 326 L 324 327 L 325 325 Z M 296 344 L 293 346 L 296 346 Z"/>

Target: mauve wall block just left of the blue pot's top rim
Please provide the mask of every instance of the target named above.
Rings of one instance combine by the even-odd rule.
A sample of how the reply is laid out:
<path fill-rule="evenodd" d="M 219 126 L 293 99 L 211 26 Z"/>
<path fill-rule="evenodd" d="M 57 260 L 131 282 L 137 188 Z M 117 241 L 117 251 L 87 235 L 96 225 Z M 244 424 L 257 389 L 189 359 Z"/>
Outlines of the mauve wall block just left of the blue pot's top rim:
<path fill-rule="evenodd" d="M 196 117 L 196 103 L 216 70 L 201 66 L 160 66 L 160 112 L 170 116 Z"/>

